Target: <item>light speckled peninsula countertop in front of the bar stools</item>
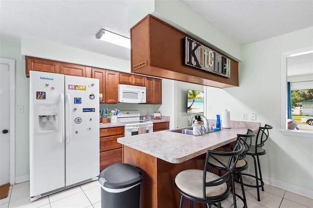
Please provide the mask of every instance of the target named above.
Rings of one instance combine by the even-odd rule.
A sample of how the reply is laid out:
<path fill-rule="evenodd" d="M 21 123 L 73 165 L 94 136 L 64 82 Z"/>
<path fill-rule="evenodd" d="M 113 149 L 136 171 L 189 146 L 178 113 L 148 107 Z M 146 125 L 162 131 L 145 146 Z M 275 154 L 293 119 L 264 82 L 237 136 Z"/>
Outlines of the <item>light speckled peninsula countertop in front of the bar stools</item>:
<path fill-rule="evenodd" d="M 248 128 L 257 132 L 260 124 L 254 124 Z M 232 127 L 201 136 L 166 130 L 121 137 L 117 142 L 169 163 L 178 164 L 204 154 L 208 149 L 216 149 L 231 143 L 236 140 L 237 134 L 245 134 L 246 130 L 246 126 Z"/>

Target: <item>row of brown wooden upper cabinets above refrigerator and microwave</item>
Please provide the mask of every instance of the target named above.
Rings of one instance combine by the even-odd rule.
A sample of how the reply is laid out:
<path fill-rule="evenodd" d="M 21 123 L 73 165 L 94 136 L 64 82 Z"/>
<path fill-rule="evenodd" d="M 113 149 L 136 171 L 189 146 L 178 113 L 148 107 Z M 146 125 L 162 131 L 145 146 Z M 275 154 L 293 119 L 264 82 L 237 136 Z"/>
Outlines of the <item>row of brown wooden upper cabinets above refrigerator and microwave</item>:
<path fill-rule="evenodd" d="M 118 84 L 120 83 L 145 86 L 146 104 L 162 104 L 162 80 L 160 79 L 28 56 L 25 56 L 25 63 L 27 77 L 29 77 L 30 70 L 35 70 L 99 79 L 99 93 L 103 98 L 100 103 L 117 104 Z"/>

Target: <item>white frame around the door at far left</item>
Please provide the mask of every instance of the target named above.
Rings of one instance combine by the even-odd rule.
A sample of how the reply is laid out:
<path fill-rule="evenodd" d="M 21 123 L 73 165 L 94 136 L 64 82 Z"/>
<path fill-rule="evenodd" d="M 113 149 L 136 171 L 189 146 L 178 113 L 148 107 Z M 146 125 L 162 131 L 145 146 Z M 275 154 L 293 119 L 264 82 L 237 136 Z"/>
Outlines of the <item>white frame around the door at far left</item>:
<path fill-rule="evenodd" d="M 0 62 L 9 65 L 10 70 L 10 185 L 15 184 L 15 60 L 0 58 Z"/>

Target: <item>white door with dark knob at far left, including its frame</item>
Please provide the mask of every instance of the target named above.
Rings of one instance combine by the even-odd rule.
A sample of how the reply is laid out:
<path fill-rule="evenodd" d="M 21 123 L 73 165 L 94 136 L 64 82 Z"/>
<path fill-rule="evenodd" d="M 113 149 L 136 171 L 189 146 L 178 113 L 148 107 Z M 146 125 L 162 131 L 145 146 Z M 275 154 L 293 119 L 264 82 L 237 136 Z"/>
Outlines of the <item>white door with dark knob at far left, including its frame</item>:
<path fill-rule="evenodd" d="M 0 62 L 0 185 L 14 184 L 14 71 L 15 61 L 1 58 Z M 13 80 L 13 83 L 11 83 Z M 13 84 L 13 86 L 11 86 Z M 13 90 L 12 90 L 13 89 Z M 12 94 L 13 93 L 13 94 Z M 13 107 L 10 107 L 13 105 Z M 12 133 L 11 133 L 12 131 Z M 11 140 L 11 141 L 10 141 Z M 10 146 L 11 142 L 11 146 Z M 11 151 L 10 151 L 11 150 Z M 13 151 L 13 152 L 12 152 Z M 13 158 L 12 155 L 13 154 Z M 11 171 L 10 171 L 11 169 Z M 13 173 L 12 173 L 13 171 Z M 11 173 L 11 174 L 10 174 Z"/>

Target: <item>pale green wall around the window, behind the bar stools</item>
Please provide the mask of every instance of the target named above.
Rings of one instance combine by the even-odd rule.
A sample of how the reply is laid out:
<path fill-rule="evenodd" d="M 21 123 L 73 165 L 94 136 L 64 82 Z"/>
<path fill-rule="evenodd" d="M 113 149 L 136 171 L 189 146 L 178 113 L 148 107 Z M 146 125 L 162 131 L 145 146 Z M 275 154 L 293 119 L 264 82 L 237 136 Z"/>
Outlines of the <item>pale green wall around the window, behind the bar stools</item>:
<path fill-rule="evenodd" d="M 215 118 L 215 114 L 227 109 L 231 120 L 242 121 L 242 113 L 248 113 L 248 119 L 250 113 L 256 113 L 257 122 L 273 126 L 265 146 L 267 154 L 260 157 L 263 175 L 269 183 L 300 187 L 299 192 L 311 198 L 313 137 L 284 136 L 280 132 L 280 53 L 312 46 L 312 37 L 311 27 L 247 44 L 239 64 L 239 87 L 207 87 L 207 105 L 212 105 L 208 117 Z"/>

